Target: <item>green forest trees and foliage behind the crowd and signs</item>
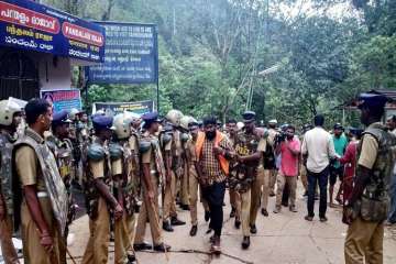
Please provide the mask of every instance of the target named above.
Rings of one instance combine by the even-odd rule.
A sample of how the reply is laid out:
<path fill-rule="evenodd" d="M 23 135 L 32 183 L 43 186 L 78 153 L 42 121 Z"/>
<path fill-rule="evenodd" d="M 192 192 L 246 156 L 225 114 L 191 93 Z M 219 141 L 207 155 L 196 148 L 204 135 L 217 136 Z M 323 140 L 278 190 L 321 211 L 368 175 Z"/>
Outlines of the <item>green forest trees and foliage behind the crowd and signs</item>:
<path fill-rule="evenodd" d="M 157 24 L 163 114 L 176 108 L 226 120 L 251 109 L 264 122 L 301 125 L 320 112 L 330 124 L 359 92 L 396 88 L 396 1 L 41 2 L 85 19 Z M 89 102 L 155 92 L 154 85 L 92 85 Z M 355 117 L 348 113 L 346 124 Z"/>

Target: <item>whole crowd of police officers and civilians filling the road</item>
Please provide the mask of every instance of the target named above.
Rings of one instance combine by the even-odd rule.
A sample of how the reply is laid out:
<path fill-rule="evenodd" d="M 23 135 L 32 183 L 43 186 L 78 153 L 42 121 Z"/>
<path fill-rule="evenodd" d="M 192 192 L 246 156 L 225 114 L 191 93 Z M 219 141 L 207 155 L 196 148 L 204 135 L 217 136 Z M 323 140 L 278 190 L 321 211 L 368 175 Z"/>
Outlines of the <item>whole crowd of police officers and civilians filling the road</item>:
<path fill-rule="evenodd" d="M 230 196 L 234 228 L 248 250 L 261 212 L 304 210 L 296 206 L 297 182 L 307 197 L 305 220 L 328 221 L 327 207 L 343 207 L 349 224 L 345 263 L 383 263 L 384 222 L 396 221 L 396 117 L 382 123 L 386 97 L 360 97 L 365 130 L 331 133 L 324 118 L 298 130 L 270 120 L 256 125 L 245 111 L 241 121 L 198 121 L 170 110 L 136 118 L 97 112 L 53 112 L 43 99 L 24 109 L 0 101 L 0 231 L 6 263 L 19 263 L 14 231 L 23 242 L 24 263 L 66 263 L 67 235 L 75 220 L 74 188 L 84 190 L 89 240 L 81 263 L 107 263 L 110 237 L 114 263 L 135 263 L 136 251 L 167 252 L 163 232 L 184 226 L 176 206 L 190 213 L 189 235 L 197 235 L 199 201 L 212 233 L 209 245 L 221 253 L 224 196 Z M 339 188 L 334 188 L 340 183 Z M 334 197 L 334 190 L 338 190 Z M 268 208 L 270 197 L 275 207 Z M 329 200 L 328 200 L 329 197 Z M 148 222 L 152 243 L 144 241 Z M 365 262 L 364 262 L 365 260 Z"/>

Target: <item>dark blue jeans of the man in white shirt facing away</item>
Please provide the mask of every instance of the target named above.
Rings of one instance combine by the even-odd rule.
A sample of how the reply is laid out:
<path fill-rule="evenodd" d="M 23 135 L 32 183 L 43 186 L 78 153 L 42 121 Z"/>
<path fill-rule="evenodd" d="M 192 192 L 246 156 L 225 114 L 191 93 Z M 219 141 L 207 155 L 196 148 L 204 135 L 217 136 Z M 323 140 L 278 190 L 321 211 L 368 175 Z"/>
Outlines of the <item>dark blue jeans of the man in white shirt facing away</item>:
<path fill-rule="evenodd" d="M 327 210 L 327 185 L 329 179 L 329 167 L 326 167 L 320 173 L 312 173 L 307 169 L 308 176 L 308 201 L 307 209 L 308 216 L 315 217 L 314 208 L 315 208 L 315 189 L 317 184 L 319 183 L 320 190 L 320 200 L 319 200 L 319 217 L 326 217 Z"/>

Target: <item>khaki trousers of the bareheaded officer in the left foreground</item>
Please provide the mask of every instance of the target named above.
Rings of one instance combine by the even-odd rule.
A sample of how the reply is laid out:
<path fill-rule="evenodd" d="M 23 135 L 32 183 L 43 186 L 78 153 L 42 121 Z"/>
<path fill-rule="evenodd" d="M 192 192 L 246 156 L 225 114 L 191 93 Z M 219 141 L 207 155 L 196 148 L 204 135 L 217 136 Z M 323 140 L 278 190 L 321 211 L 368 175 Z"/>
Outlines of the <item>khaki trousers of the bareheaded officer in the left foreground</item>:
<path fill-rule="evenodd" d="M 40 244 L 40 233 L 37 226 L 33 221 L 25 201 L 21 207 L 22 220 L 22 244 L 24 263 L 29 264 L 58 264 L 61 263 L 58 224 L 53 215 L 51 201 L 48 198 L 38 198 L 38 202 L 48 226 L 50 235 L 54 238 L 54 250 L 47 253 Z"/>

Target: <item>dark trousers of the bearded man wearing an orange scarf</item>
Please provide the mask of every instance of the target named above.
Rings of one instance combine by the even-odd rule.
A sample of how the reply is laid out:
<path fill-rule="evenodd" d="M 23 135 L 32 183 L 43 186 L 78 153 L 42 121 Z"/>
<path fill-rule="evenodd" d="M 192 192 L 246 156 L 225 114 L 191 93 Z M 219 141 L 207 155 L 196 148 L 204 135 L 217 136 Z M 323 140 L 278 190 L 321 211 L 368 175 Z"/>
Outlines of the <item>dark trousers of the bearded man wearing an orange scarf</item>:
<path fill-rule="evenodd" d="M 215 234 L 220 237 L 223 224 L 223 201 L 226 194 L 226 183 L 215 183 L 204 189 L 204 197 L 208 201 L 210 210 L 209 228 L 213 229 Z"/>

